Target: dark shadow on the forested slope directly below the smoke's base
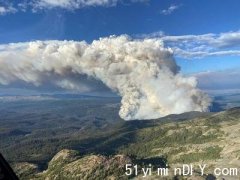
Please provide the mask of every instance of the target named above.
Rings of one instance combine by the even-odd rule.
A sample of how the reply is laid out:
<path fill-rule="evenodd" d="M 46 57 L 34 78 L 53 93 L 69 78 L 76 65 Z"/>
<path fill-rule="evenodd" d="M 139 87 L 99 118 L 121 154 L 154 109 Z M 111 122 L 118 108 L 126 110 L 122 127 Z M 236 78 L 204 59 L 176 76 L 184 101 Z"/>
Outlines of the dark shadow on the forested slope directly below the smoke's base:
<path fill-rule="evenodd" d="M 96 153 L 102 155 L 116 154 L 120 147 L 136 141 L 135 134 L 139 129 L 154 126 L 153 121 L 121 121 L 112 132 L 76 141 L 71 148 L 82 154 Z"/>

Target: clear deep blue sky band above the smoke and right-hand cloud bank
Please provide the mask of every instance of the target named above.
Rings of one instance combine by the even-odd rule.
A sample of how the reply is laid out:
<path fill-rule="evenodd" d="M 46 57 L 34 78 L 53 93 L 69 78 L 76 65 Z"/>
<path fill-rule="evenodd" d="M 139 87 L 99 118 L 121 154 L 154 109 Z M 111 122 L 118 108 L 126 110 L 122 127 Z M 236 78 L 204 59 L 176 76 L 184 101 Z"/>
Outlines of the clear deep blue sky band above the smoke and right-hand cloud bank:
<path fill-rule="evenodd" d="M 100 0 L 101 1 L 101 0 Z M 1 1 L 0 1 L 1 2 Z M 6 0 L 0 5 L 6 6 Z M 16 4 L 19 1 L 10 1 Z M 170 6 L 171 13 L 161 13 Z M 1 43 L 33 39 L 92 41 L 112 34 L 143 34 L 163 31 L 168 35 L 206 34 L 238 31 L 238 0 L 149 0 L 115 6 L 87 6 L 79 9 L 53 7 L 32 12 L 32 7 L 0 16 Z M 16 5 L 17 6 L 17 5 Z"/>

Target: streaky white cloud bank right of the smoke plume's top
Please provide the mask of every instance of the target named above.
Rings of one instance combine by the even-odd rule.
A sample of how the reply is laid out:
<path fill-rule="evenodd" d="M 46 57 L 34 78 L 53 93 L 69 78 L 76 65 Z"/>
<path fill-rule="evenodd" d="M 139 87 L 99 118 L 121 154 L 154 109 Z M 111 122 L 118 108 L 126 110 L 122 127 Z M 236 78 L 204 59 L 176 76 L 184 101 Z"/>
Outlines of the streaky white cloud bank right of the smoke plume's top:
<path fill-rule="evenodd" d="M 138 35 L 140 38 L 160 38 L 176 56 L 203 58 L 207 56 L 240 56 L 240 31 L 202 35 L 165 35 L 162 31 Z"/>

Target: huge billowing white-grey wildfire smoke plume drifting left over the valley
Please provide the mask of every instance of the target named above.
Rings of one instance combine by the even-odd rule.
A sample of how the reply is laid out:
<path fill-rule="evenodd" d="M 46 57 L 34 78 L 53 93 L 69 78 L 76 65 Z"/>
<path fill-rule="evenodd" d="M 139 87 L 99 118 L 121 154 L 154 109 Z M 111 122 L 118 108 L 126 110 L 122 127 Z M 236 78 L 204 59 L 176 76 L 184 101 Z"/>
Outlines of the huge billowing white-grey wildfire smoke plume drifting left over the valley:
<path fill-rule="evenodd" d="M 51 83 L 66 89 L 87 88 L 76 78 L 102 81 L 121 97 L 125 120 L 153 119 L 187 111 L 207 111 L 210 100 L 183 77 L 171 49 L 159 39 L 111 36 L 91 44 L 35 41 L 0 46 L 0 84 Z"/>

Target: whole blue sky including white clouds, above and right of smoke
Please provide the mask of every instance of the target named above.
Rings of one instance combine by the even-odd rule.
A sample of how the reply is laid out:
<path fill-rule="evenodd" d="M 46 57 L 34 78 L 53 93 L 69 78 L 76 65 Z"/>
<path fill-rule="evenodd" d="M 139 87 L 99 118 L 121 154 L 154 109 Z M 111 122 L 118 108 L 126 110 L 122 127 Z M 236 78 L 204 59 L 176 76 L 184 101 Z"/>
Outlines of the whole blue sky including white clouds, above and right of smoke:
<path fill-rule="evenodd" d="M 0 0 L 0 44 L 163 38 L 184 74 L 238 71 L 239 7 L 239 0 Z"/>

